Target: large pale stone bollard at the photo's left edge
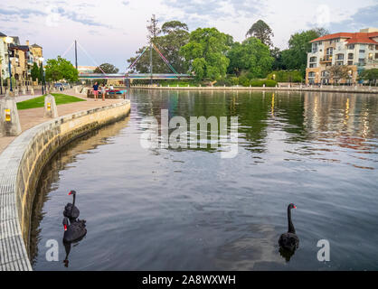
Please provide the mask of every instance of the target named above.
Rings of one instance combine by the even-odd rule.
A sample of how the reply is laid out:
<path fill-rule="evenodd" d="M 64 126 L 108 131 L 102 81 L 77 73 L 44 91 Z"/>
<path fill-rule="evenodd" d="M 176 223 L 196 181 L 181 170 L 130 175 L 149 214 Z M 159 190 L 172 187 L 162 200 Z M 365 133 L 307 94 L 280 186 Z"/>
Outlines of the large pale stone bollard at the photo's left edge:
<path fill-rule="evenodd" d="M 5 96 L 0 103 L 0 135 L 17 136 L 21 134 L 20 117 L 18 117 L 17 105 L 14 98 Z"/>

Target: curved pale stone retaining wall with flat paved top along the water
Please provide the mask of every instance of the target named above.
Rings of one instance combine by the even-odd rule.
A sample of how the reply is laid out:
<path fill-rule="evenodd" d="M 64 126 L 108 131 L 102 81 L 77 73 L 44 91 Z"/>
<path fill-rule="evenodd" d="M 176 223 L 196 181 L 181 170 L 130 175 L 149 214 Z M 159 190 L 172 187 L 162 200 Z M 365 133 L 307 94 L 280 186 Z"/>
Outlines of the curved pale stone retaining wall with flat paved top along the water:
<path fill-rule="evenodd" d="M 58 117 L 19 135 L 0 154 L 0 271 L 32 270 L 28 258 L 34 192 L 44 165 L 62 145 L 126 117 L 130 102 Z"/>

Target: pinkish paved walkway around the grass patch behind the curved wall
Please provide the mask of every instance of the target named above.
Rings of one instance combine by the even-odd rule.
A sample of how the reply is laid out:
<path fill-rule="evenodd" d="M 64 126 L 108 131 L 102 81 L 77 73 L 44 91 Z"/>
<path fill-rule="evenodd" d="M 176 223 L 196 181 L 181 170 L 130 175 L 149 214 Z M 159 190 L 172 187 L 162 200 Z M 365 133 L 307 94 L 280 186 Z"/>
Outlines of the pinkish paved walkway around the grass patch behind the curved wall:
<path fill-rule="evenodd" d="M 74 93 L 73 89 L 64 90 L 64 94 L 75 96 L 77 98 L 82 98 L 87 101 L 74 102 L 74 103 L 58 106 L 58 115 L 60 117 L 64 115 L 69 115 L 74 112 L 78 112 L 80 110 L 88 110 L 90 108 L 96 108 L 96 107 L 105 107 L 113 103 L 123 101 L 123 99 L 106 99 L 105 101 L 102 101 L 102 100 L 95 101 L 93 98 L 86 98 L 86 97 L 83 97 L 83 95 L 81 94 Z M 24 97 L 27 97 L 27 96 L 18 97 L 16 99 L 16 102 L 25 100 Z M 33 97 L 30 96 L 30 97 L 34 98 L 36 96 L 33 96 Z M 20 100 L 20 99 L 23 99 L 23 100 Z M 51 118 L 43 117 L 43 114 L 44 114 L 43 109 L 44 109 L 43 107 L 39 107 L 39 108 L 23 109 L 23 110 L 18 111 L 18 115 L 20 117 L 20 122 L 21 122 L 21 128 L 23 132 L 33 126 L 39 125 L 47 120 L 51 120 Z M 5 150 L 8 144 L 11 144 L 14 141 L 15 137 L 16 136 L 0 137 L 0 154 Z"/>

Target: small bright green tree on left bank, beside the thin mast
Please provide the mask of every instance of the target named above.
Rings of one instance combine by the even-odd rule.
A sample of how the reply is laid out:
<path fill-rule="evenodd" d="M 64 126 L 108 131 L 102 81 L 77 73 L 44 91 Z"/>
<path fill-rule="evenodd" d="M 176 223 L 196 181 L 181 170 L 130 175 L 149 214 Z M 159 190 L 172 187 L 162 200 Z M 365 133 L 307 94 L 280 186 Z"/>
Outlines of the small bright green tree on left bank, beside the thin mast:
<path fill-rule="evenodd" d="M 65 79 L 70 82 L 77 81 L 79 79 L 78 70 L 76 70 L 70 61 L 67 61 L 61 56 L 56 59 L 47 61 L 45 66 L 46 80 L 58 81 Z"/>

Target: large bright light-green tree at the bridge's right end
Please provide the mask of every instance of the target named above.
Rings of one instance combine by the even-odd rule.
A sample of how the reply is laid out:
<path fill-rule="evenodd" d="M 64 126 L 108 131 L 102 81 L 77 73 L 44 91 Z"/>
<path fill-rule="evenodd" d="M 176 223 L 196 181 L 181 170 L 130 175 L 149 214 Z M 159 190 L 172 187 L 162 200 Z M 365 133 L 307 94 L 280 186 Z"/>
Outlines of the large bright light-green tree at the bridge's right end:
<path fill-rule="evenodd" d="M 225 76 L 230 60 L 225 53 L 230 49 L 231 36 L 216 28 L 198 28 L 190 33 L 189 42 L 181 48 L 196 79 L 220 79 Z"/>

